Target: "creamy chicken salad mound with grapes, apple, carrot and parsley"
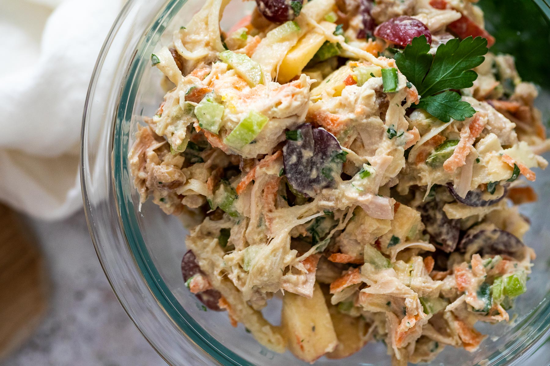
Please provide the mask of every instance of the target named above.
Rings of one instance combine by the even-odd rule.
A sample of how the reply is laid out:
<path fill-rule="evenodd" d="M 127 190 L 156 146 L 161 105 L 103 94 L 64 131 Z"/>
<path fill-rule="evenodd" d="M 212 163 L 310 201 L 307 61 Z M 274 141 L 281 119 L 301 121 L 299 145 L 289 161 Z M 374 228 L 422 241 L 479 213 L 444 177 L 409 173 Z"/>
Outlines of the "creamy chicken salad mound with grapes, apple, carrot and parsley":
<path fill-rule="evenodd" d="M 475 351 L 526 291 L 550 146 L 505 40 L 469 1 L 256 0 L 224 32 L 228 2 L 151 55 L 167 93 L 128 156 L 142 202 L 199 218 L 185 286 L 306 362 Z"/>

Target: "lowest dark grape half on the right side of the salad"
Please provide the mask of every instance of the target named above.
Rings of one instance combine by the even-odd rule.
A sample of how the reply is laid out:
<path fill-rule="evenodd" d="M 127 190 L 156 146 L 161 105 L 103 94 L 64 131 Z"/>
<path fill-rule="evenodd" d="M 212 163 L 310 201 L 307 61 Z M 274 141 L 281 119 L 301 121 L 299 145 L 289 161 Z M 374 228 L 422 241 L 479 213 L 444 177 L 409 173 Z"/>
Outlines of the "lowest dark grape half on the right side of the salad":
<path fill-rule="evenodd" d="M 471 247 L 471 246 L 474 247 Z M 521 261 L 525 258 L 525 244 L 514 234 L 497 228 L 474 227 L 460 241 L 461 251 L 483 255 L 501 255 Z"/>

